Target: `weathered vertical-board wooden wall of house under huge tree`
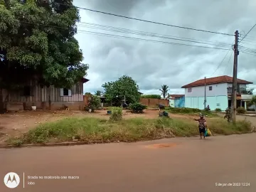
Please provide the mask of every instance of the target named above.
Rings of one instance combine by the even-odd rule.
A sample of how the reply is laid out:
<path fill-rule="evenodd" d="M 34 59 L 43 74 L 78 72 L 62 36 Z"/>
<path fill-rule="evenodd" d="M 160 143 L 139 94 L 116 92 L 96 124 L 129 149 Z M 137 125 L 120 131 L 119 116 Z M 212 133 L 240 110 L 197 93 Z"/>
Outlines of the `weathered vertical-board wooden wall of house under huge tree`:
<path fill-rule="evenodd" d="M 23 90 L 8 92 L 4 90 L 4 102 L 48 102 L 48 91 L 50 91 L 51 102 L 82 102 L 83 83 L 79 82 L 71 88 L 71 96 L 60 96 L 60 88 L 51 86 L 41 88 L 40 85 L 31 83 L 31 95 L 23 96 Z"/>

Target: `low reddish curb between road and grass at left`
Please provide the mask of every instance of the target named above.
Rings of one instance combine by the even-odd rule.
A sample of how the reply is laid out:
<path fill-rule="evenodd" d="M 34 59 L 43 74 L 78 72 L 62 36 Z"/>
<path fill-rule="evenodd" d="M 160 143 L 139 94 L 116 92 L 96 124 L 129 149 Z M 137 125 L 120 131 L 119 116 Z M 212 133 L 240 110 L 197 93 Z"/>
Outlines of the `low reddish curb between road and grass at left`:
<path fill-rule="evenodd" d="M 63 143 L 55 143 L 55 144 L 22 144 L 20 146 L 1 144 L 0 149 L 23 148 L 23 147 L 34 147 L 34 146 L 74 146 L 74 145 L 100 144 L 100 143 L 102 142 L 63 142 Z"/>

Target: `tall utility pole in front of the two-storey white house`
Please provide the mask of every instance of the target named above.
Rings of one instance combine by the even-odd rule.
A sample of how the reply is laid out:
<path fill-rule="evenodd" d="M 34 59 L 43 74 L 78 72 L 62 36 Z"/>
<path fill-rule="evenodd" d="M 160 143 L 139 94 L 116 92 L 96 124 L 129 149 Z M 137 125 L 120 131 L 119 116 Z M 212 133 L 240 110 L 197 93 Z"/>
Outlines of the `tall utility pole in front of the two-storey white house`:
<path fill-rule="evenodd" d="M 236 122 L 236 112 L 237 112 L 237 89 L 238 89 L 238 31 L 235 31 L 235 45 L 234 50 L 234 66 L 233 66 L 233 85 L 232 85 L 232 97 L 231 97 L 231 121 Z"/>

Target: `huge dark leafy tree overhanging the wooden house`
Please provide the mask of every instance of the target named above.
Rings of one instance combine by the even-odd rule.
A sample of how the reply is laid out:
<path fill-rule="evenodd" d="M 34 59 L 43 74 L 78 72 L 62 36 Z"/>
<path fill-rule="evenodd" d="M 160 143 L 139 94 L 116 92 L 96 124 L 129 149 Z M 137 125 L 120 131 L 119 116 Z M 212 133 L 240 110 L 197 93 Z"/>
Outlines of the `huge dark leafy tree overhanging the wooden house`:
<path fill-rule="evenodd" d="M 0 0 L 0 102 L 2 89 L 31 80 L 71 87 L 86 75 L 74 38 L 78 21 L 72 0 Z"/>

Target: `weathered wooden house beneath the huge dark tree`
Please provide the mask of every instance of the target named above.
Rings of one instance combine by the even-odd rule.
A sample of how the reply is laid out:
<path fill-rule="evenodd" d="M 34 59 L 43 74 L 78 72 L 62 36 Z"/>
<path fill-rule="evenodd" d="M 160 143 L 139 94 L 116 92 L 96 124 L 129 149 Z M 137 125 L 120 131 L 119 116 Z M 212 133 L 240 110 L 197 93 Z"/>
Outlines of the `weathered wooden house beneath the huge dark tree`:
<path fill-rule="evenodd" d="M 88 82 L 82 78 L 80 82 L 68 88 L 46 87 L 37 82 L 29 82 L 19 90 L 4 90 L 6 110 L 26 110 L 36 105 L 38 110 L 60 110 L 67 106 L 70 110 L 82 110 L 84 106 L 83 84 Z"/>

